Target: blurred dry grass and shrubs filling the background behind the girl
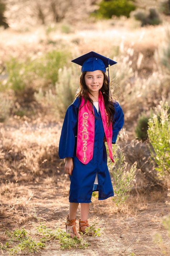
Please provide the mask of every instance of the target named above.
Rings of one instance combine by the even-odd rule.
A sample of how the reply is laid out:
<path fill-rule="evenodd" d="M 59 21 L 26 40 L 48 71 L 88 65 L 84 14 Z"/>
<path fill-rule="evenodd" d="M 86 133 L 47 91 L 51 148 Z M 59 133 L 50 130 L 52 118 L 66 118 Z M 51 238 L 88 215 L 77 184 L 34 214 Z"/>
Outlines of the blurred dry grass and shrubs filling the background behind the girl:
<path fill-rule="evenodd" d="M 167 189 L 169 24 L 170 0 L 0 0 L 1 181 L 55 173 L 63 117 L 81 73 L 71 59 L 93 50 L 118 62 L 110 71 L 112 92 L 125 130 L 114 168 L 134 171 L 137 162 L 138 189 Z M 37 126 L 54 129 L 57 139 L 29 134 Z"/>

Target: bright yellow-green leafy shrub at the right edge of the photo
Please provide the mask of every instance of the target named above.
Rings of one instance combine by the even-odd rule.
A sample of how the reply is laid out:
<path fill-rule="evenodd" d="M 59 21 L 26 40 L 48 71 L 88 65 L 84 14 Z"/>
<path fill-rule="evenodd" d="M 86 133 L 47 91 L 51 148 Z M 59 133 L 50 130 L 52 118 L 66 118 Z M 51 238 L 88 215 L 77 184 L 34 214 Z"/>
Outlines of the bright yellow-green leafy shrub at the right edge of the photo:
<path fill-rule="evenodd" d="M 155 108 L 152 119 L 148 121 L 148 139 L 151 147 L 151 157 L 154 158 L 156 170 L 160 176 L 170 174 L 170 113 L 167 102 L 162 101 Z"/>

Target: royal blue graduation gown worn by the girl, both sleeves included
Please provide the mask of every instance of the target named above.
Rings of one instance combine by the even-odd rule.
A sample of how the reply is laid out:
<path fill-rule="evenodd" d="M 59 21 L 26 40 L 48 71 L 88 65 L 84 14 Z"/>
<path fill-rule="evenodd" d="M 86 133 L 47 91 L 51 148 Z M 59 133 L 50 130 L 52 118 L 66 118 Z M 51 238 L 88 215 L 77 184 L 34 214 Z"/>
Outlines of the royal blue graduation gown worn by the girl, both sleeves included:
<path fill-rule="evenodd" d="M 77 146 L 77 121 L 80 106 L 80 98 L 76 98 L 74 102 L 67 108 L 58 148 L 59 157 L 72 157 L 73 170 L 70 176 L 70 193 L 69 202 L 72 203 L 90 203 L 93 191 L 99 191 L 99 200 L 107 199 L 114 196 L 112 181 L 107 166 L 106 147 L 103 142 L 104 128 L 101 119 L 100 110 L 97 112 L 95 106 L 95 138 L 93 158 L 87 163 L 81 163 L 76 157 Z M 118 102 L 114 103 L 115 115 L 113 125 L 112 143 L 117 140 L 119 131 L 123 127 L 124 114 Z M 113 156 L 114 159 L 114 156 Z M 94 185 L 96 173 L 98 174 L 98 185 Z"/>

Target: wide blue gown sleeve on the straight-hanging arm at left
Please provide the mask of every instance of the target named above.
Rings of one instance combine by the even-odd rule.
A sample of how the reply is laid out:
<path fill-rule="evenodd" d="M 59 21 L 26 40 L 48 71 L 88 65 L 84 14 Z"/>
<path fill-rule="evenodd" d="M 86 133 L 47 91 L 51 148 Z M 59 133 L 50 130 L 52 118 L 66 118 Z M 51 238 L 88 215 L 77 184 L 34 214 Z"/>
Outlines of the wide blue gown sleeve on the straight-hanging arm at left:
<path fill-rule="evenodd" d="M 78 108 L 71 104 L 67 108 L 61 129 L 58 147 L 58 156 L 61 159 L 74 156 L 75 140 L 77 135 L 77 120 Z"/>

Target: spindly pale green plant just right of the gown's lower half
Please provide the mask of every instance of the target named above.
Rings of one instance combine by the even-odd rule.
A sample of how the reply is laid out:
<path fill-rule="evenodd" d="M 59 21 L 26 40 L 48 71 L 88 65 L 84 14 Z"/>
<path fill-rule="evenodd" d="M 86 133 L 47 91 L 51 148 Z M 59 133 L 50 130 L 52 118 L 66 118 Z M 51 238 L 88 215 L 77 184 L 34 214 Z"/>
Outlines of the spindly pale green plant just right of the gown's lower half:
<path fill-rule="evenodd" d="M 108 169 L 114 180 L 115 196 L 113 197 L 113 201 L 115 202 L 115 205 L 119 206 L 129 197 L 129 192 L 133 187 L 137 162 L 134 162 L 132 166 L 128 166 L 128 163 L 125 162 L 124 153 L 121 151 L 118 144 L 114 144 L 113 146 L 113 156 L 114 163 L 111 162 L 108 157 Z"/>

